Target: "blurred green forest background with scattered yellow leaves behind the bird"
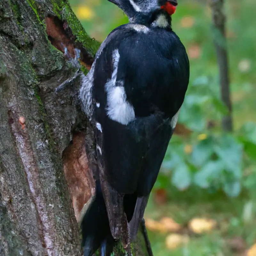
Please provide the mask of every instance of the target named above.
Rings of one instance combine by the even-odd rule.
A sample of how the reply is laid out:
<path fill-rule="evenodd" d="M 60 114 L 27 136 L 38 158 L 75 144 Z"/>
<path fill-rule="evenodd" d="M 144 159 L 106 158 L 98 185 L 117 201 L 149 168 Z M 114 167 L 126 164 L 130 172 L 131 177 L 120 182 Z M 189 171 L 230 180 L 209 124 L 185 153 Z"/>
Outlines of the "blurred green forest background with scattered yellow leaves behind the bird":
<path fill-rule="evenodd" d="M 87 33 L 100 42 L 128 22 L 107 0 L 70 4 Z M 225 13 L 232 133 L 221 129 L 227 109 L 220 100 L 211 8 L 206 1 L 179 0 L 173 15 L 191 75 L 145 213 L 155 256 L 256 255 L 255 0 L 227 0 Z"/>

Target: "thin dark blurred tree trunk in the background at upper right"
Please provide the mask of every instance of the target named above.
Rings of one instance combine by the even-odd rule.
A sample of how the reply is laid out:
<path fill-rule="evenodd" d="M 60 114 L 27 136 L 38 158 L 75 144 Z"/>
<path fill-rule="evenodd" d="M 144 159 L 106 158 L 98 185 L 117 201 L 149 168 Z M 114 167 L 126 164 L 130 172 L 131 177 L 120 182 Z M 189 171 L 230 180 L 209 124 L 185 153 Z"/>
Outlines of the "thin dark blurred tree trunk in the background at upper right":
<path fill-rule="evenodd" d="M 224 15 L 224 0 L 210 0 L 213 20 L 213 40 L 217 53 L 217 61 L 220 72 L 220 93 L 223 103 L 228 108 L 228 114 L 222 117 L 222 129 L 231 132 L 233 130 L 232 103 L 229 88 L 228 50 L 226 38 L 226 17 Z"/>

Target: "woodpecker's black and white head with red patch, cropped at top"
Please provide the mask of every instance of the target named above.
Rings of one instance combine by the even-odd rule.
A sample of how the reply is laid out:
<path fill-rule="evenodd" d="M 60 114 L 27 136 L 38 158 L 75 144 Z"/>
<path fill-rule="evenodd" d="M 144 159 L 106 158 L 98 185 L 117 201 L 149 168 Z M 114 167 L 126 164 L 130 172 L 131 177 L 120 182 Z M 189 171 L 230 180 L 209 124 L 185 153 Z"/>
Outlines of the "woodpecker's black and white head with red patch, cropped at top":
<path fill-rule="evenodd" d="M 121 8 L 131 19 L 138 13 L 149 15 L 157 10 L 164 10 L 169 15 L 176 11 L 177 0 L 108 0 Z"/>

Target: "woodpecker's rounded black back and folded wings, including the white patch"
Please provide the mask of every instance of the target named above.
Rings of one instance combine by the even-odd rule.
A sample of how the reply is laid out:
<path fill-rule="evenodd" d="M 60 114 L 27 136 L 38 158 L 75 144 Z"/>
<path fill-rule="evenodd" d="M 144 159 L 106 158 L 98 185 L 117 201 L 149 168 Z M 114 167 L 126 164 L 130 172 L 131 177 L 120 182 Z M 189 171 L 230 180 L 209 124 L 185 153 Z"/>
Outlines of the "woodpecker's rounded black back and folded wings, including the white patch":
<path fill-rule="evenodd" d="M 172 31 L 146 34 L 123 27 L 103 49 L 94 72 L 94 114 L 102 129 L 98 146 L 104 151 L 105 175 L 119 193 L 150 193 L 188 76 L 185 48 Z M 117 101 L 114 106 L 109 107 L 108 97 Z M 118 104 L 126 105 L 115 112 Z"/>

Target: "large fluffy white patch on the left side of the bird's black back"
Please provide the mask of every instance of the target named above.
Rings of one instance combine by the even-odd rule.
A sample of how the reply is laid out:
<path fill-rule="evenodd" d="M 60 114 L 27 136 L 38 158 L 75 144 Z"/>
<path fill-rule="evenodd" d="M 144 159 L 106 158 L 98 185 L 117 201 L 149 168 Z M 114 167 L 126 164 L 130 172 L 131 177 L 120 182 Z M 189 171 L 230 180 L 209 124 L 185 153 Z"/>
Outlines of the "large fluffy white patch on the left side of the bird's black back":
<path fill-rule="evenodd" d="M 120 86 L 116 85 L 117 68 L 119 62 L 118 49 L 113 51 L 113 73 L 111 79 L 105 84 L 107 92 L 107 115 L 111 120 L 120 124 L 128 124 L 135 119 L 134 108 L 126 100 L 126 93 L 122 81 L 117 81 Z"/>

